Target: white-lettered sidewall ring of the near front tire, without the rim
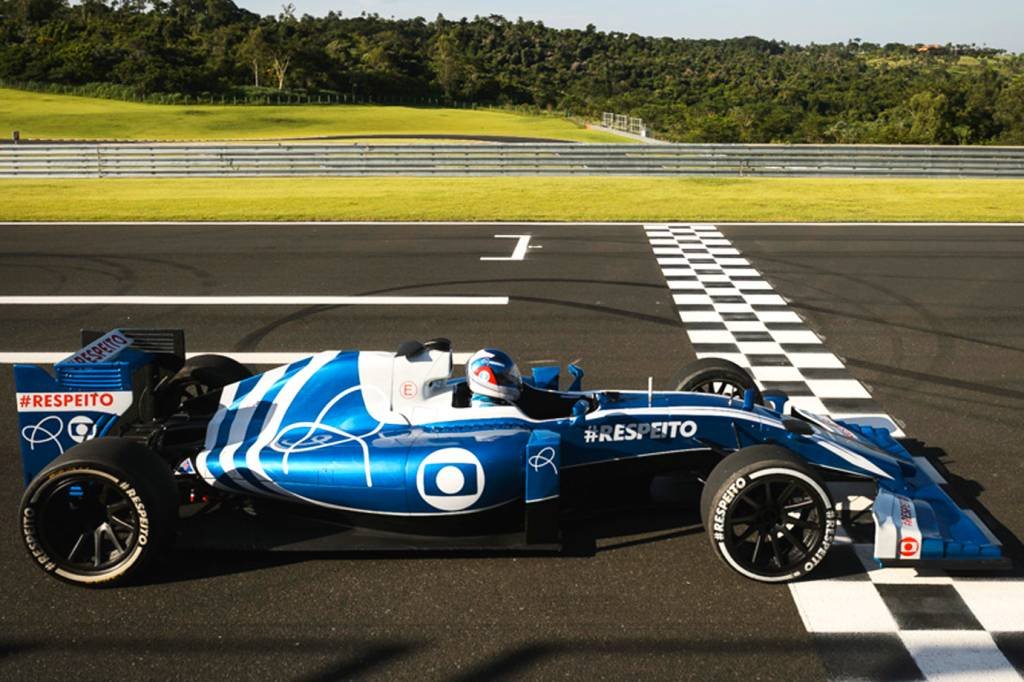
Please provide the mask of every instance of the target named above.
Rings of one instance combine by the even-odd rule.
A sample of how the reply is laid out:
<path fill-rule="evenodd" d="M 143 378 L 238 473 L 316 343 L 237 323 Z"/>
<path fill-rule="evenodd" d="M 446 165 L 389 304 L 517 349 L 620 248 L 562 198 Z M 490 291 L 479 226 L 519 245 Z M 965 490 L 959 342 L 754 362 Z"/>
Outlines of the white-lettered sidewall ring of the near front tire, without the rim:
<path fill-rule="evenodd" d="M 728 461 L 728 458 L 725 461 Z M 811 557 L 794 570 L 779 576 L 756 573 L 744 568 L 729 554 L 728 547 L 724 542 L 725 519 L 732 505 L 739 498 L 739 493 L 757 479 L 768 475 L 790 476 L 807 483 L 824 509 L 824 527 L 821 537 L 811 550 Z M 821 564 L 836 540 L 837 515 L 831 498 L 828 496 L 824 483 L 807 467 L 797 462 L 775 460 L 738 469 L 725 477 L 714 495 L 708 499 L 708 506 L 705 507 L 703 511 L 708 535 L 719 557 L 739 574 L 762 583 L 784 583 L 806 576 Z"/>

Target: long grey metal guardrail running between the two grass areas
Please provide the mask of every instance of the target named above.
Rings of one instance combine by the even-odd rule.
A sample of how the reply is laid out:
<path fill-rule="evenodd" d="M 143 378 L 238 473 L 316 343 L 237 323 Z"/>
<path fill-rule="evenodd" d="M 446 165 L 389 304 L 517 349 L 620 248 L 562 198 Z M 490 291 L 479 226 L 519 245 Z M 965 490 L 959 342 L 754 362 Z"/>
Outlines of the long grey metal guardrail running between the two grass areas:
<path fill-rule="evenodd" d="M 0 177 L 753 175 L 1024 178 L 1024 147 L 5 144 Z"/>

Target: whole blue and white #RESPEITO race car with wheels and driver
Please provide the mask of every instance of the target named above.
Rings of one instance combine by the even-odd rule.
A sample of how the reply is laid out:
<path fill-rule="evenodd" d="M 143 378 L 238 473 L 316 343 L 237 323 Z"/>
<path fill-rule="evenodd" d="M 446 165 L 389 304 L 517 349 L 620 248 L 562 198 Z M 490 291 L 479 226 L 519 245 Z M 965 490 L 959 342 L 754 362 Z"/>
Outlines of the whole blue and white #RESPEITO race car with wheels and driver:
<path fill-rule="evenodd" d="M 76 585 L 136 580 L 186 540 L 557 551 L 563 503 L 590 476 L 655 463 L 701 471 L 712 548 L 756 581 L 820 565 L 851 485 L 873 500 L 880 564 L 1006 563 L 887 430 L 794 409 L 724 359 L 692 364 L 674 391 L 584 390 L 574 365 L 560 389 L 560 368 L 521 377 L 494 349 L 463 376 L 445 339 L 261 374 L 185 359 L 180 330 L 83 332 L 83 345 L 52 373 L 14 368 L 25 546 Z"/>

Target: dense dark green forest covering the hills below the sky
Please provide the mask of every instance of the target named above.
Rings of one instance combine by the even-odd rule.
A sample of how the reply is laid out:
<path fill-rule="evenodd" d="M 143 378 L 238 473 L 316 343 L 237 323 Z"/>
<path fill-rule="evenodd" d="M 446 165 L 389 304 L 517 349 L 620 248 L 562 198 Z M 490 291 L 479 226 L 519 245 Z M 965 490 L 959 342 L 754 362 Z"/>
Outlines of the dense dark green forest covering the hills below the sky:
<path fill-rule="evenodd" d="M 677 141 L 1024 143 L 1024 55 L 553 29 L 503 16 L 260 16 L 231 0 L 0 0 L 0 80 L 98 96 L 276 93 L 643 118 Z"/>

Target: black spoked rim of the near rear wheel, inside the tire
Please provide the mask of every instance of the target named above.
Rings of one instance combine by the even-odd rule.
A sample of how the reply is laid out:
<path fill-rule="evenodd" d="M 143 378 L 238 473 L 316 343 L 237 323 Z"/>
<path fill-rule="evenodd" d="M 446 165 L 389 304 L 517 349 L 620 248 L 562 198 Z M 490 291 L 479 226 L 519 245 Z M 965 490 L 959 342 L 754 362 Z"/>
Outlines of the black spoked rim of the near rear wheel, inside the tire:
<path fill-rule="evenodd" d="M 139 517 L 124 491 L 100 476 L 56 481 L 38 503 L 37 540 L 60 568 L 103 573 L 132 556 Z"/>

